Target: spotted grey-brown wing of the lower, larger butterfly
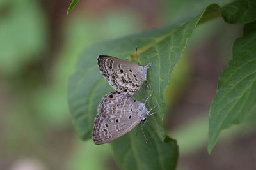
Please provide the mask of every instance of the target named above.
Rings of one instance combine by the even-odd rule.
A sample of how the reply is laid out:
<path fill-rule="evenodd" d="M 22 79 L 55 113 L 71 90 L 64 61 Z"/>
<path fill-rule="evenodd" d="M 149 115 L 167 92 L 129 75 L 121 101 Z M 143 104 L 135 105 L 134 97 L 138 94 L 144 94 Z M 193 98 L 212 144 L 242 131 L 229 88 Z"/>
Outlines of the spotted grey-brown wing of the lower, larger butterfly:
<path fill-rule="evenodd" d="M 120 92 L 109 93 L 102 98 L 92 131 L 95 144 L 103 144 L 131 131 L 141 122 L 139 103 Z"/>

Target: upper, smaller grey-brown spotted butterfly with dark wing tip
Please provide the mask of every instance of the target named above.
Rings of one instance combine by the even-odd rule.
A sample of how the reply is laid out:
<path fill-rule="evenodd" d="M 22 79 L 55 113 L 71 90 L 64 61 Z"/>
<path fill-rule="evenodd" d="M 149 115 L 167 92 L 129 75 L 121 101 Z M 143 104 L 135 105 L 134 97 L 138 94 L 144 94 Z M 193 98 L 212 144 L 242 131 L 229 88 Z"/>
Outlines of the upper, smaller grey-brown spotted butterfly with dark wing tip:
<path fill-rule="evenodd" d="M 146 66 L 140 66 L 108 55 L 98 57 L 100 73 L 108 80 L 109 85 L 116 91 L 129 95 L 136 93 L 147 80 L 147 69 L 151 65 L 149 63 Z"/>

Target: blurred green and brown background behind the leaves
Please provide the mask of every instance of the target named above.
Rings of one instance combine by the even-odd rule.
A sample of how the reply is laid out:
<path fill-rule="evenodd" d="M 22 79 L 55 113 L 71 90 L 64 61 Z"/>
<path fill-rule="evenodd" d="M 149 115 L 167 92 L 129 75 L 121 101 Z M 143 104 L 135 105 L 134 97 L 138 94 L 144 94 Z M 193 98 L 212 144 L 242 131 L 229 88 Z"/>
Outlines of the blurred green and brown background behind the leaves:
<path fill-rule="evenodd" d="M 210 1 L 84 0 L 67 15 L 69 3 L 0 0 L 0 169 L 118 169 L 108 144 L 81 141 L 72 126 L 67 82 L 77 57 L 92 43 L 193 17 Z M 175 69 L 166 125 L 177 169 L 256 168 L 250 125 L 206 150 L 209 106 L 241 31 L 222 18 L 200 25 Z"/>

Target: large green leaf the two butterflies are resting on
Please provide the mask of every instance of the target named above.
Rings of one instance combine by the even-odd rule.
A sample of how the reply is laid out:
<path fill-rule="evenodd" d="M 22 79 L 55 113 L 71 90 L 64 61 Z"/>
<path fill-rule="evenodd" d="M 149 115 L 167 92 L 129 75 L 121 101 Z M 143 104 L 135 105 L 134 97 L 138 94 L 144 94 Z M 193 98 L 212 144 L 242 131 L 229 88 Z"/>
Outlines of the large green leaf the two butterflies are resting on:
<path fill-rule="evenodd" d="M 157 134 L 163 140 L 163 117 L 165 112 L 164 90 L 170 81 L 173 68 L 180 59 L 189 36 L 193 34 L 196 24 L 209 13 L 215 15 L 220 8 L 212 5 L 193 20 L 178 26 L 168 26 L 155 31 L 142 32 L 113 39 L 92 45 L 84 51 L 77 62 L 76 72 L 70 77 L 68 87 L 68 101 L 70 111 L 74 117 L 77 131 L 83 139 L 91 138 L 93 120 L 97 114 L 97 106 L 100 99 L 108 92 L 113 92 L 106 80 L 102 77 L 97 67 L 98 55 L 112 55 L 121 59 L 131 59 L 134 55 L 134 46 L 139 46 L 138 62 L 142 65 L 152 62 L 148 69 L 148 81 L 151 85 L 153 96 L 148 100 L 147 106 L 156 108 L 154 115 Z M 146 96 L 142 88 L 137 98 Z"/>

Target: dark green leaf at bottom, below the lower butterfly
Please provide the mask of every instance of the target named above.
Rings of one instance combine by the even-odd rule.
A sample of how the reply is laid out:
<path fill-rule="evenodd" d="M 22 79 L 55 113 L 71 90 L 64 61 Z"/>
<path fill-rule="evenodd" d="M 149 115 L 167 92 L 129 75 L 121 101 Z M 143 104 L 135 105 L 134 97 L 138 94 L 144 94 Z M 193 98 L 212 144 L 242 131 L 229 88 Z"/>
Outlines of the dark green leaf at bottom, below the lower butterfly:
<path fill-rule="evenodd" d="M 157 138 L 152 124 L 154 121 L 149 119 L 143 127 L 148 143 L 145 143 L 140 125 L 111 142 L 116 162 L 122 169 L 175 169 L 178 159 L 176 141 L 166 137 L 163 143 Z M 128 142 L 124 144 L 124 141 Z"/>

